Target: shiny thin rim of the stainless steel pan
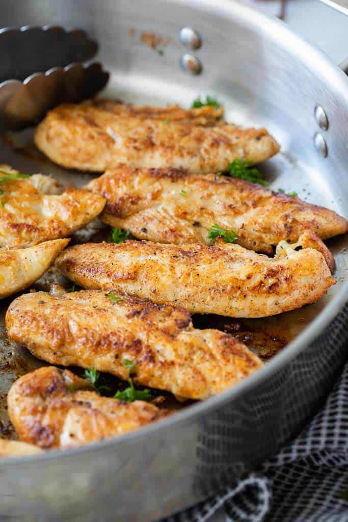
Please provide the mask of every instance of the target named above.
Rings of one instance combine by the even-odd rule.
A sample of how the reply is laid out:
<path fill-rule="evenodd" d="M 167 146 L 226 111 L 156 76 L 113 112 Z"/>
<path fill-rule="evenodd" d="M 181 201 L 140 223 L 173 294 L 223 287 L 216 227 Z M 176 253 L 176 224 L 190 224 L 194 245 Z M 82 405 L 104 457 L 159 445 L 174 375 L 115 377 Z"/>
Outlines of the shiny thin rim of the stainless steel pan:
<path fill-rule="evenodd" d="M 171 3 L 171 0 L 163 1 Z M 187 7 L 187 0 L 175 1 L 176 3 L 183 4 Z M 283 45 L 287 48 L 291 48 L 293 54 L 295 54 L 299 60 L 301 59 L 301 55 L 305 55 L 306 62 L 310 64 L 310 67 L 314 69 L 317 74 L 330 76 L 330 81 L 335 84 L 336 92 L 348 92 L 348 78 L 342 70 L 335 65 L 325 53 L 294 33 L 281 20 L 268 17 L 256 8 L 239 4 L 237 0 L 215 0 L 213 5 L 210 3 L 210 0 L 190 0 L 189 7 L 199 7 L 201 10 L 205 9 L 206 11 L 213 11 L 214 13 L 217 13 L 218 11 L 224 16 L 227 15 L 231 18 L 237 14 L 239 19 L 244 20 L 249 26 L 252 26 L 255 32 L 271 33 L 273 35 L 275 33 L 282 34 Z M 273 38 L 275 37 L 273 36 Z M 345 97 L 346 96 L 347 95 L 345 94 Z M 135 441 L 138 442 L 139 440 L 145 440 L 147 437 L 151 437 L 159 431 L 178 428 L 184 423 L 194 422 L 199 418 L 205 417 L 213 410 L 217 410 L 224 405 L 237 400 L 248 390 L 267 381 L 267 379 L 283 369 L 287 363 L 295 359 L 299 353 L 306 350 L 310 342 L 318 337 L 334 317 L 343 309 L 343 306 L 348 299 L 347 291 L 348 278 L 344 281 L 340 291 L 333 297 L 331 302 L 325 306 L 317 317 L 302 331 L 301 334 L 291 341 L 284 350 L 275 355 L 274 358 L 262 369 L 256 371 L 254 374 L 219 395 L 197 402 L 197 404 L 176 412 L 168 418 L 144 426 L 140 430 L 118 435 L 117 437 L 71 449 L 52 449 L 48 452 L 43 452 L 42 454 L 0 458 L 0 469 L 20 465 L 22 468 L 21 472 L 23 473 L 25 471 L 23 467 L 35 465 L 37 462 L 49 462 L 56 460 L 57 458 L 63 461 L 65 459 L 71 459 L 75 455 L 85 457 L 89 453 L 95 455 L 97 452 L 104 451 L 105 448 L 109 447 L 117 450 L 124 445 L 131 445 Z"/>

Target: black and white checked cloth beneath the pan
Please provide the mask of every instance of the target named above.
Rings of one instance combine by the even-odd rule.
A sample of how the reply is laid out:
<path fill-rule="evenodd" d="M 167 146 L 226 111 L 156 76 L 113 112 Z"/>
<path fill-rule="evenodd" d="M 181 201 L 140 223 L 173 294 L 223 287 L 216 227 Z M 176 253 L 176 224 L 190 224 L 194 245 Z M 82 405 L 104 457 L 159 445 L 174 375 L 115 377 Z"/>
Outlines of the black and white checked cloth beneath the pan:
<path fill-rule="evenodd" d="M 289 446 L 234 488 L 165 522 L 208 522 L 222 506 L 226 522 L 348 522 L 348 363 Z"/>

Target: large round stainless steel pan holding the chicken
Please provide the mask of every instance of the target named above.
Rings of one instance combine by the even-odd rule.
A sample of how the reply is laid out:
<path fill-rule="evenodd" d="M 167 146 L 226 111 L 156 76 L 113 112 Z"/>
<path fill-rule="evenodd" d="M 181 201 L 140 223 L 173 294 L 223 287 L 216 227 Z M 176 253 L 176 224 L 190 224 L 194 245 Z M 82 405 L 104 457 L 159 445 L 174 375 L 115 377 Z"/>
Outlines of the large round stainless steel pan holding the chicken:
<path fill-rule="evenodd" d="M 233 0 L 2 0 L 0 12 L 3 26 L 52 23 L 86 29 L 100 43 L 98 58 L 112 72 L 112 96 L 183 105 L 199 93 L 216 96 L 225 103 L 227 119 L 265 125 L 282 144 L 281 154 L 265 165 L 272 187 L 295 190 L 347 217 L 348 79 L 282 22 Z M 185 27 L 199 33 L 200 49 L 179 43 Z M 143 32 L 169 38 L 157 48 L 163 52 L 141 41 Z M 190 37 L 186 43 L 192 44 Z M 201 74 L 190 73 L 199 67 Z M 24 139 L 30 141 L 30 133 Z M 0 160 L 65 182 L 86 180 L 30 147 L 18 148 L 18 137 L 3 139 Z M 276 321 L 253 323 L 268 333 L 278 327 L 293 339 L 263 370 L 217 397 L 115 440 L 1 461 L 0 518 L 157 519 L 233 483 L 297 434 L 346 359 L 348 238 L 329 244 L 338 283 L 328 295 Z M 2 352 L 4 394 L 16 374 L 39 363 L 8 345 L 5 335 Z"/>

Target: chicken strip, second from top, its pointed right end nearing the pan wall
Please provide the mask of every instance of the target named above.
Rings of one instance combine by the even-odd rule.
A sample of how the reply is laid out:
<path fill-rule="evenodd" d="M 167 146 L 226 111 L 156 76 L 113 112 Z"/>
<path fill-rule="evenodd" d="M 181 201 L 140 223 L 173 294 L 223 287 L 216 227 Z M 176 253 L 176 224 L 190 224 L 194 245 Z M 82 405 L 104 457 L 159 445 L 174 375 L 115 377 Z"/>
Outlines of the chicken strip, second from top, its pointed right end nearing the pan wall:
<path fill-rule="evenodd" d="M 272 254 L 279 241 L 294 243 L 305 230 L 321 239 L 348 230 L 347 220 L 332 210 L 214 174 L 119 165 L 86 188 L 106 198 L 104 223 L 158 243 L 210 244 L 209 230 L 217 223 L 235 230 L 240 245 Z"/>

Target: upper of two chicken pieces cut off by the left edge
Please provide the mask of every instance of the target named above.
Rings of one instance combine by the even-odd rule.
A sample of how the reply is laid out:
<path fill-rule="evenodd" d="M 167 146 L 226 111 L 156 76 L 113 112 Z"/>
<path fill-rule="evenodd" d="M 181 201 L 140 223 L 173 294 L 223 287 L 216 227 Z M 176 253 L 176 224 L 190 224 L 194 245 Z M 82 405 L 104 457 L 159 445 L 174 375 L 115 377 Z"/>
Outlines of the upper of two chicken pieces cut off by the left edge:
<path fill-rule="evenodd" d="M 0 171 L 18 174 L 1 165 Z M 61 188 L 42 174 L 2 182 L 0 173 L 0 247 L 21 248 L 64 238 L 102 211 L 105 200 L 86 190 Z"/>

